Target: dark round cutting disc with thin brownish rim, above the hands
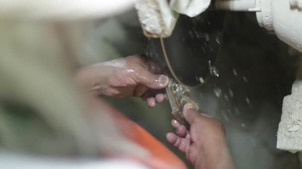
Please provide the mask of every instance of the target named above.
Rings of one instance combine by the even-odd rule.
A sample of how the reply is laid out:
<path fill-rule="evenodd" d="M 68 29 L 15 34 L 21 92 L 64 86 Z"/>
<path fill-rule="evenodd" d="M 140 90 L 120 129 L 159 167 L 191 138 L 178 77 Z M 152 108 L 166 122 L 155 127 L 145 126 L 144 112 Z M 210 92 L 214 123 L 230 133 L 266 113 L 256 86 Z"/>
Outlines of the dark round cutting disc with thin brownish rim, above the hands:
<path fill-rule="evenodd" d="M 217 11 L 206 11 L 194 18 L 180 15 L 171 37 L 150 39 L 146 53 L 176 81 L 199 85 L 200 79 L 210 75 L 215 62 L 223 38 L 223 21 L 224 13 Z"/>

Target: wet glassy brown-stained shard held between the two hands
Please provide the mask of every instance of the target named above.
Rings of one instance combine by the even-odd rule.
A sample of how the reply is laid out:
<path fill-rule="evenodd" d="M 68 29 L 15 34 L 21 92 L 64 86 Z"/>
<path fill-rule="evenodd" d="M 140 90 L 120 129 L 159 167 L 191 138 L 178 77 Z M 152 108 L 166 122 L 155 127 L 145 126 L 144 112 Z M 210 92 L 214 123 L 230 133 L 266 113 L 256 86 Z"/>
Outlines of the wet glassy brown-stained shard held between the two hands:
<path fill-rule="evenodd" d="M 190 90 L 181 84 L 177 84 L 170 78 L 169 85 L 166 87 L 166 93 L 172 109 L 172 115 L 176 121 L 189 128 L 190 125 L 184 120 L 182 115 L 183 107 L 186 103 L 192 103 L 194 108 L 198 110 L 198 105 L 188 96 Z"/>

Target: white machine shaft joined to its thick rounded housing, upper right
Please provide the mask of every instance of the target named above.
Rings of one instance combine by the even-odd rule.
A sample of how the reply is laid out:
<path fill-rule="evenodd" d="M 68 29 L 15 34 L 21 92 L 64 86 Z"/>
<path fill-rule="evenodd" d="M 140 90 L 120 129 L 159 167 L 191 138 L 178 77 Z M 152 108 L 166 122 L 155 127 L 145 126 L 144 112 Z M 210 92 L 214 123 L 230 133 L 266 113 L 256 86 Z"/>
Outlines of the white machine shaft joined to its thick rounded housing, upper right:
<path fill-rule="evenodd" d="M 216 0 L 214 9 L 256 12 L 261 27 L 302 52 L 302 0 Z"/>

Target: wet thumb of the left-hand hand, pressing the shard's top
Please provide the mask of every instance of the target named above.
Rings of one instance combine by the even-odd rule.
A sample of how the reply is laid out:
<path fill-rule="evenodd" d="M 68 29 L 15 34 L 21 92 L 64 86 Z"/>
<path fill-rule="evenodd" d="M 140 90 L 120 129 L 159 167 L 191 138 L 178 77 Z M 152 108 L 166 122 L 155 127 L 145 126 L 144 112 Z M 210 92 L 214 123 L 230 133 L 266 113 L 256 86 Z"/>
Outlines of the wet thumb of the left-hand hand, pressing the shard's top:
<path fill-rule="evenodd" d="M 161 89 L 169 84 L 169 78 L 165 75 L 155 75 L 146 69 L 135 75 L 134 80 L 138 84 L 144 84 L 152 89 Z"/>

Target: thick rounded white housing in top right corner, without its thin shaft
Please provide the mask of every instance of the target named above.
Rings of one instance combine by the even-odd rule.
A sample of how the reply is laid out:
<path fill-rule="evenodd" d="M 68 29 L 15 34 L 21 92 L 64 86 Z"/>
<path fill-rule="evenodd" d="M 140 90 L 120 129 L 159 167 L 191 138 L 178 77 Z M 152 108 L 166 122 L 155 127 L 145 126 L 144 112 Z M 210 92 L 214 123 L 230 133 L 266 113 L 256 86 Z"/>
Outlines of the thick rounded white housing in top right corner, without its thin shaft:
<path fill-rule="evenodd" d="M 274 30 L 277 37 L 302 52 L 302 10 L 293 6 L 292 0 L 257 0 L 260 26 Z M 302 6 L 302 0 L 296 0 Z"/>

